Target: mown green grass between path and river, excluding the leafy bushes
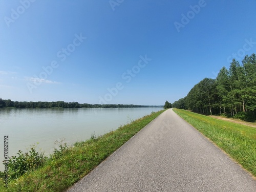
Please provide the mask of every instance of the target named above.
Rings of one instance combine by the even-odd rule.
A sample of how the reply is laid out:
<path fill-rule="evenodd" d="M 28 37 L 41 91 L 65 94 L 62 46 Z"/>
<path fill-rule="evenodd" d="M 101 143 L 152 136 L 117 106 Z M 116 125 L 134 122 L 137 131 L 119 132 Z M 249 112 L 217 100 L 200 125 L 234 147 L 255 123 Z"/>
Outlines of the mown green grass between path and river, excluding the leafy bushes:
<path fill-rule="evenodd" d="M 41 168 L 9 181 L 8 188 L 0 179 L 0 191 L 63 191 L 90 173 L 164 111 L 153 112 L 98 138 L 92 136 L 90 140 L 77 142 Z"/>

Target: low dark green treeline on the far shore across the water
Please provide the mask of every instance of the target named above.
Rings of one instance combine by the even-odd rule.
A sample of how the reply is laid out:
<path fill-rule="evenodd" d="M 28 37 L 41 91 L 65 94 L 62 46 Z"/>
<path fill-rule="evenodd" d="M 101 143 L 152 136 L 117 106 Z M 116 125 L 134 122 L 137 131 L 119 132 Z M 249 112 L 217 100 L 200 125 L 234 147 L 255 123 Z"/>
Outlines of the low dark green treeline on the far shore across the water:
<path fill-rule="evenodd" d="M 10 99 L 0 98 L 0 108 L 151 108 L 163 107 L 155 105 L 135 105 L 135 104 L 80 104 L 78 102 L 64 102 L 64 101 L 12 101 Z"/>

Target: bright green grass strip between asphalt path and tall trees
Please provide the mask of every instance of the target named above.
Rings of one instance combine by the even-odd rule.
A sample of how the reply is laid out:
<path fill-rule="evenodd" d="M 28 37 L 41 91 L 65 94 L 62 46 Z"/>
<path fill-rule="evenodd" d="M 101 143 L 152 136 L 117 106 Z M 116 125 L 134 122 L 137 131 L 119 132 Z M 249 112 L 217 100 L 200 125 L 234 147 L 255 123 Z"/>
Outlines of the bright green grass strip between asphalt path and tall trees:
<path fill-rule="evenodd" d="M 174 111 L 256 176 L 255 128 L 185 110 Z"/>

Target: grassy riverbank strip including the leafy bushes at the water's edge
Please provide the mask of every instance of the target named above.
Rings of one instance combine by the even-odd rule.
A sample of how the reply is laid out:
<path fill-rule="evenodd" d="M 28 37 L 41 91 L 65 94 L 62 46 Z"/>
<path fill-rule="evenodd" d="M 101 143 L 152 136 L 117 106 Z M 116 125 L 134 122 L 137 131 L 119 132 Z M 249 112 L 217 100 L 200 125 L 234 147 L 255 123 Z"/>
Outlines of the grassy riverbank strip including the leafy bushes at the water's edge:
<path fill-rule="evenodd" d="M 91 139 L 71 147 L 60 145 L 49 158 L 34 148 L 29 153 L 19 151 L 8 164 L 8 187 L 4 184 L 4 173 L 0 172 L 0 191 L 66 190 L 164 111 L 152 112 L 102 136 L 92 135 Z"/>

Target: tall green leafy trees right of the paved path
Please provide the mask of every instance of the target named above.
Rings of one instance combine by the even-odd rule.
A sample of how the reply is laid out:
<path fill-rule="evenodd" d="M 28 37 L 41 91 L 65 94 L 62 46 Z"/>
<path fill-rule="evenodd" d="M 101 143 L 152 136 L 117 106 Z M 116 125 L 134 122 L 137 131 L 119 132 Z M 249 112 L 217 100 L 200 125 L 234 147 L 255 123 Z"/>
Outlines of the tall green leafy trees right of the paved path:
<path fill-rule="evenodd" d="M 226 114 L 247 121 L 256 119 L 256 56 L 246 55 L 240 63 L 233 59 L 216 79 L 204 78 L 186 97 L 173 103 L 174 108 L 198 113 Z"/>

